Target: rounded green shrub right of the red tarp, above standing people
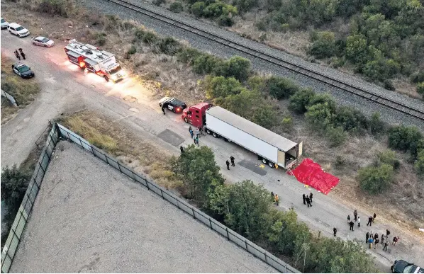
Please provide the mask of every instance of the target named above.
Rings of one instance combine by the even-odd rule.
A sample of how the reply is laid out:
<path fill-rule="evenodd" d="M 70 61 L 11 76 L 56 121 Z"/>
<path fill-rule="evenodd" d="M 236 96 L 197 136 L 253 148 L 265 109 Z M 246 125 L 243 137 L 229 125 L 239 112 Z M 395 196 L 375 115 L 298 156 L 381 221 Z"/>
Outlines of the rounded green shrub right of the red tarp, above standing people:
<path fill-rule="evenodd" d="M 381 164 L 359 169 L 358 180 L 362 190 L 369 194 L 378 194 L 389 188 L 393 176 L 393 167 Z"/>

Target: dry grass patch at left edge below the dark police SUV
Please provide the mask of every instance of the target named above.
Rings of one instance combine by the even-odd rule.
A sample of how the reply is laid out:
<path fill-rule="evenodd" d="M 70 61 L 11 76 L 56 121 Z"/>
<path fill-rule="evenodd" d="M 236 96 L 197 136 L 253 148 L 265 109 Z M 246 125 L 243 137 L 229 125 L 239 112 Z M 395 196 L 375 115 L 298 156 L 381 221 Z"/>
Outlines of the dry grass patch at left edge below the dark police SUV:
<path fill-rule="evenodd" d="M 34 101 L 35 97 L 40 93 L 40 86 L 35 78 L 21 79 L 20 76 L 13 73 L 11 66 L 14 63 L 15 60 L 1 55 L 1 89 L 11 94 L 19 105 L 15 107 L 2 101 L 1 124 L 11 120 L 18 114 L 20 108 L 25 108 L 25 106 Z M 25 64 L 25 61 L 23 61 L 23 63 Z"/>

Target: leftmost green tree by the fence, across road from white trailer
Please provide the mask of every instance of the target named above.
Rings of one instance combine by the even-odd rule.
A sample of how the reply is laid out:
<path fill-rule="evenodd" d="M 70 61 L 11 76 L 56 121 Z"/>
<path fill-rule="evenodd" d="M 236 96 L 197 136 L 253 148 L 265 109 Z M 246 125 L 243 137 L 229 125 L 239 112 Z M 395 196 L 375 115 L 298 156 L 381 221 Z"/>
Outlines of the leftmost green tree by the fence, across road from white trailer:
<path fill-rule="evenodd" d="M 194 144 L 184 149 L 184 153 L 171 160 L 172 171 L 182 180 L 188 190 L 189 198 L 199 202 L 201 207 L 208 206 L 208 198 L 224 178 L 219 173 L 215 156 L 208 147 L 195 147 Z"/>

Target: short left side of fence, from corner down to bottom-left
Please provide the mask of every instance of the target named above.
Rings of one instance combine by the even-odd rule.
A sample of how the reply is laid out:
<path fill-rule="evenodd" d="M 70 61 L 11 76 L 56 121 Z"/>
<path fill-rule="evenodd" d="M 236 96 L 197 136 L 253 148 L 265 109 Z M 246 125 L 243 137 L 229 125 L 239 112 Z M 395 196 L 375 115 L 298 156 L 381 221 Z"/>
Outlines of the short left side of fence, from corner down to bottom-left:
<path fill-rule="evenodd" d="M 31 177 L 26 193 L 23 196 L 21 206 L 18 213 L 16 213 L 15 220 L 12 224 L 9 236 L 7 237 L 6 244 L 4 244 L 3 251 L 1 252 L 1 272 L 8 273 L 11 268 L 13 258 L 18 249 L 18 244 L 21 241 L 23 229 L 28 222 L 28 217 L 33 210 L 35 198 L 37 198 L 38 190 L 40 190 L 41 183 L 43 182 L 45 170 L 47 169 L 53 150 L 58 142 L 57 128 L 52 127 L 45 142 L 45 147 L 41 152 L 38 164 L 35 166 L 35 171 Z"/>

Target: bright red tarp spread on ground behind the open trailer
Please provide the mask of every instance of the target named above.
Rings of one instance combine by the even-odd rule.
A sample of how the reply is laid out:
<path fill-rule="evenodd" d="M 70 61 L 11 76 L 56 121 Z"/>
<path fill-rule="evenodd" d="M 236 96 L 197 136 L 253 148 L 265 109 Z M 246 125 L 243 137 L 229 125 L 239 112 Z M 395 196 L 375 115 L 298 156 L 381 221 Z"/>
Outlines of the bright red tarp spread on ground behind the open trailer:
<path fill-rule="evenodd" d="M 328 194 L 340 181 L 336 176 L 324 172 L 319 164 L 308 158 L 304 159 L 296 169 L 288 173 L 293 173 L 291 175 L 294 175 L 297 181 L 309 185 L 324 194 Z"/>

